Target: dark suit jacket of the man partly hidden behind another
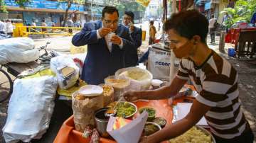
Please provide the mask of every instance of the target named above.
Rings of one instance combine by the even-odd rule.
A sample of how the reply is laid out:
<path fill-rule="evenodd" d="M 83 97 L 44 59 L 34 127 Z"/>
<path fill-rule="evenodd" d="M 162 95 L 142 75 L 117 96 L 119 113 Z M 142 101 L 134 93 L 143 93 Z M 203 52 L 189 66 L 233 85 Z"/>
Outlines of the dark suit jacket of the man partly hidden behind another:
<path fill-rule="evenodd" d="M 134 27 L 134 31 L 131 33 L 132 40 L 134 40 L 134 45 L 136 49 L 128 50 L 125 53 L 124 61 L 125 67 L 134 67 L 138 63 L 138 48 L 142 45 L 142 29 Z"/>

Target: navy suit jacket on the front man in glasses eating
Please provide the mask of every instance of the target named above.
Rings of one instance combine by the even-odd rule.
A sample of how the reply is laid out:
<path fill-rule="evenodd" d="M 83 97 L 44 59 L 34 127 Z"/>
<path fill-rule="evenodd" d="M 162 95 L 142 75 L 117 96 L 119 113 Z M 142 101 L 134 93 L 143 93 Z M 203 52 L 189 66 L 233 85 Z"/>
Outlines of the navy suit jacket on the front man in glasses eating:
<path fill-rule="evenodd" d="M 84 28 L 75 34 L 72 43 L 75 46 L 87 45 L 87 55 L 82 69 L 81 79 L 87 84 L 102 84 L 107 76 L 117 69 L 125 67 L 124 52 L 135 50 L 129 29 L 119 24 L 116 35 L 122 38 L 123 47 L 112 44 L 112 52 L 107 48 L 105 38 L 97 39 L 97 29 L 102 28 L 102 21 L 85 23 Z"/>

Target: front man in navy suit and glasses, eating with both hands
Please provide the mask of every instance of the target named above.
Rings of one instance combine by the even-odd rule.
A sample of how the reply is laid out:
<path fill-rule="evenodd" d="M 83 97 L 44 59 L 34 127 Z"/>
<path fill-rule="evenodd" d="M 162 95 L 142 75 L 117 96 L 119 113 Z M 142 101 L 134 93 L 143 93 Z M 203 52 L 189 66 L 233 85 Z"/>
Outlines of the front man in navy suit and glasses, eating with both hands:
<path fill-rule="evenodd" d="M 107 76 L 125 67 L 124 52 L 136 50 L 129 28 L 118 23 L 119 13 L 113 6 L 105 6 L 102 20 L 85 23 L 75 34 L 75 46 L 87 45 L 87 55 L 81 79 L 87 84 L 101 84 Z"/>

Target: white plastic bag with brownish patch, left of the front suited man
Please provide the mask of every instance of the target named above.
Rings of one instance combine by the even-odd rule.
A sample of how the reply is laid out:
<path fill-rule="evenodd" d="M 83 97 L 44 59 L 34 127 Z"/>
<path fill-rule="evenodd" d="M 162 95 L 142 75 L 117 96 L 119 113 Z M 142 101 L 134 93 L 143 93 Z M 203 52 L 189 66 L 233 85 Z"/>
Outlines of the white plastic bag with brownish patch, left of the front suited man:
<path fill-rule="evenodd" d="M 72 87 L 79 78 L 79 68 L 76 66 L 73 59 L 68 56 L 53 57 L 50 60 L 50 69 L 57 74 L 58 85 L 62 89 Z M 68 73 L 64 74 L 63 70 L 67 71 Z"/>

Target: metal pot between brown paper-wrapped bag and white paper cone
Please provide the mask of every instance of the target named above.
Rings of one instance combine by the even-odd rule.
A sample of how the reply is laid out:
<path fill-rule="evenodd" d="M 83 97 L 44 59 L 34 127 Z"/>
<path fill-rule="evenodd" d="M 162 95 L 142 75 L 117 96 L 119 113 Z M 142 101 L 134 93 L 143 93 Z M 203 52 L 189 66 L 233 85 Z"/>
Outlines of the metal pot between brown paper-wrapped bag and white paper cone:
<path fill-rule="evenodd" d="M 110 135 L 107 133 L 107 122 L 109 118 L 105 117 L 105 111 L 107 108 L 100 108 L 95 111 L 95 125 L 97 131 L 100 133 L 102 137 L 109 137 Z"/>

